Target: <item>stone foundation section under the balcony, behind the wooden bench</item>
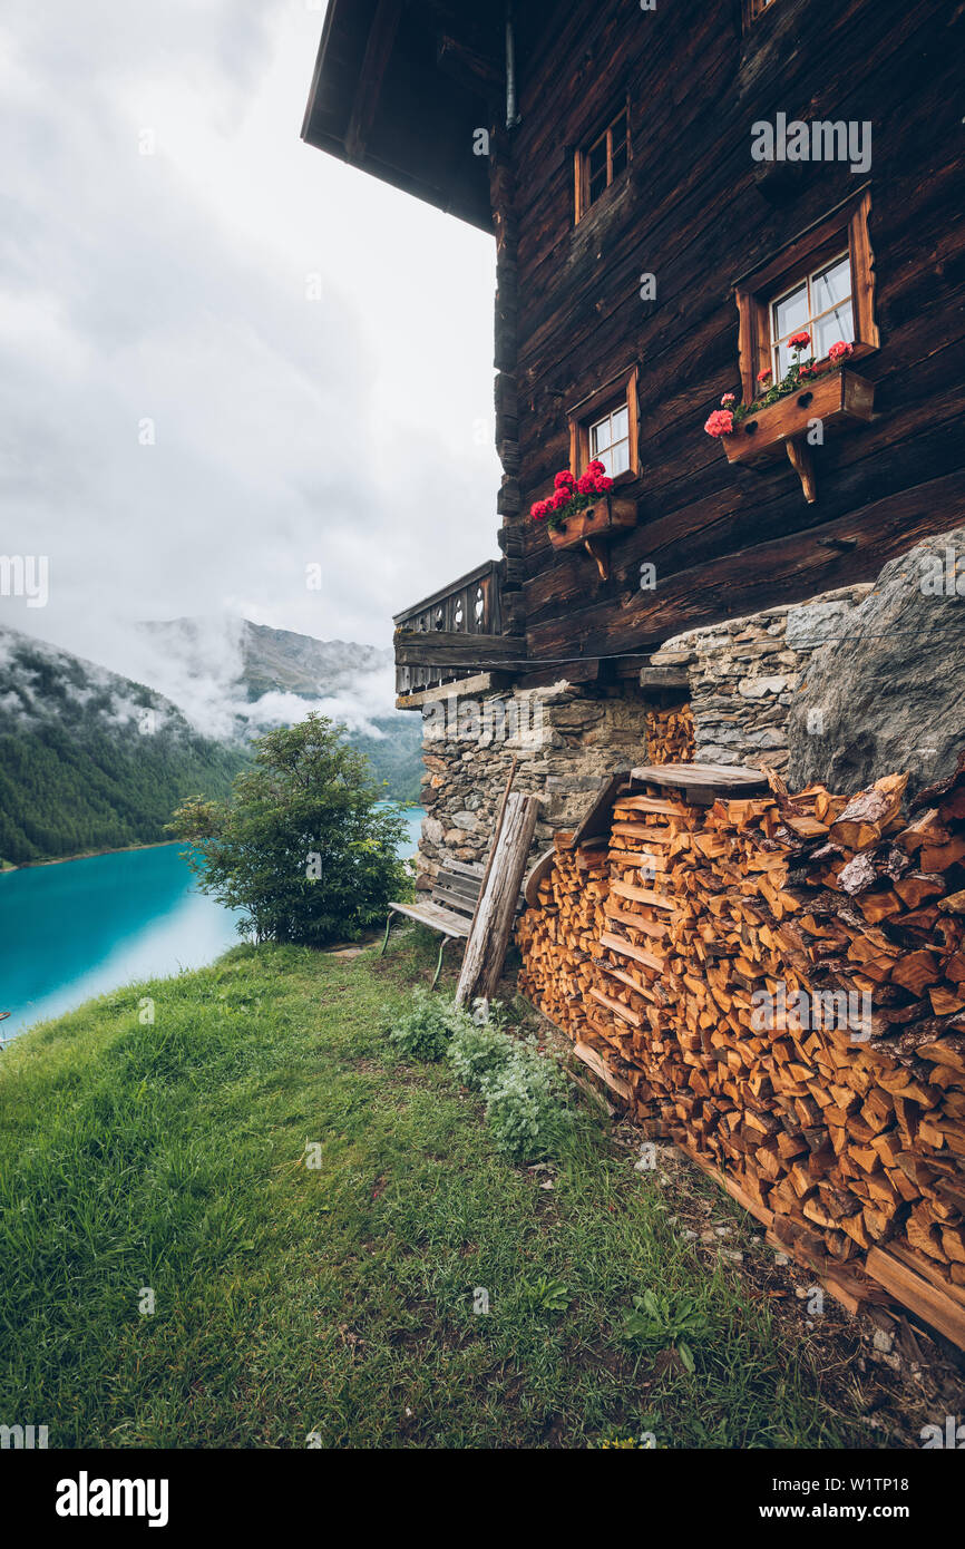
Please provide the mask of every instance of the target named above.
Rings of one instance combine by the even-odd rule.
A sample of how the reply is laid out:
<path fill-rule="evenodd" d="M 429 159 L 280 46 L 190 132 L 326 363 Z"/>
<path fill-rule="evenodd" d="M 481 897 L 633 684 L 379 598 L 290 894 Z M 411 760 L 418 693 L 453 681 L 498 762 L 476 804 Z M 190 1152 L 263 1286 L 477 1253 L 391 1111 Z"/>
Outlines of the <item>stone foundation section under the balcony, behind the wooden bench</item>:
<path fill-rule="evenodd" d="M 482 699 L 449 694 L 424 705 L 417 888 L 431 889 L 448 860 L 485 858 L 513 756 L 513 788 L 544 798 L 534 847 L 576 827 L 616 765 L 646 762 L 649 708 L 632 686 L 570 683 Z"/>

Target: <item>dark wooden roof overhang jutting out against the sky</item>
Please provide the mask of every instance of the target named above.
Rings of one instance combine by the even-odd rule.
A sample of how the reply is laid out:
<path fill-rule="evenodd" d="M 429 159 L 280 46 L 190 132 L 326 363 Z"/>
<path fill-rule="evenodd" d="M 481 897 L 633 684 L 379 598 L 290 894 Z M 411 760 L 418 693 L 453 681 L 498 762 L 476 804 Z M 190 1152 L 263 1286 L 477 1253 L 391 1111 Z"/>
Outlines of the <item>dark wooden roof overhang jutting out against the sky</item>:
<path fill-rule="evenodd" d="M 514 0 L 517 68 L 553 5 Z M 505 121 L 505 0 L 330 0 L 302 139 L 493 229 L 477 129 Z"/>

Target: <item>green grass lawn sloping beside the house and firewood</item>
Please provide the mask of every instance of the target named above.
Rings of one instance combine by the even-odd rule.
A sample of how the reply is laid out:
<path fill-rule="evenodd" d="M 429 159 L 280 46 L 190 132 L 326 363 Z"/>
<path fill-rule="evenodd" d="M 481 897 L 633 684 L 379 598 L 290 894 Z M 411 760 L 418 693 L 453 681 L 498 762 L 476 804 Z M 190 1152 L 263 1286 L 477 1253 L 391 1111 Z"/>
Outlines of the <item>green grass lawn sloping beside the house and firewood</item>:
<path fill-rule="evenodd" d="M 836 1357 L 697 1250 L 590 1098 L 533 1171 L 448 1063 L 395 1052 L 426 951 L 237 948 L 9 1046 L 0 1420 L 51 1447 L 874 1444 Z M 621 1340 L 646 1289 L 695 1300 L 694 1372 L 672 1335 Z"/>

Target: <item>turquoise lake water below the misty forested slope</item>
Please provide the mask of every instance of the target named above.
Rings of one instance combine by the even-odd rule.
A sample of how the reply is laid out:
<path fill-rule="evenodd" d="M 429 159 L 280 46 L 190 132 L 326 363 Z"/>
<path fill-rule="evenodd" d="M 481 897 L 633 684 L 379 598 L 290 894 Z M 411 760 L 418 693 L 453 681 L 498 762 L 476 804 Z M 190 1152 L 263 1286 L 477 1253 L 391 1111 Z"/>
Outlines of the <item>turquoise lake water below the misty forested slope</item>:
<path fill-rule="evenodd" d="M 421 807 L 406 810 L 412 855 Z M 0 1038 L 138 979 L 201 968 L 242 940 L 181 844 L 0 875 Z"/>

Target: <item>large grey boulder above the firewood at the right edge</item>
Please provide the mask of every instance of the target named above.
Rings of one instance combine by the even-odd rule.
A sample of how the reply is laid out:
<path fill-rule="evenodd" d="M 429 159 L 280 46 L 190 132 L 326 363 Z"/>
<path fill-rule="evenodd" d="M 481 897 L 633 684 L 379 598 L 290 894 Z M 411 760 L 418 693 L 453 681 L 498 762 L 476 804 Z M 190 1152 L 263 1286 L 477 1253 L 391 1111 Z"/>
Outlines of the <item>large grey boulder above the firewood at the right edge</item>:
<path fill-rule="evenodd" d="M 792 790 L 908 770 L 911 795 L 950 774 L 965 747 L 965 527 L 892 559 L 836 623 L 790 714 Z"/>

